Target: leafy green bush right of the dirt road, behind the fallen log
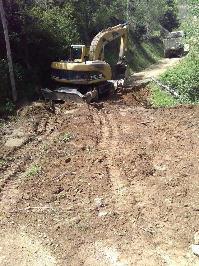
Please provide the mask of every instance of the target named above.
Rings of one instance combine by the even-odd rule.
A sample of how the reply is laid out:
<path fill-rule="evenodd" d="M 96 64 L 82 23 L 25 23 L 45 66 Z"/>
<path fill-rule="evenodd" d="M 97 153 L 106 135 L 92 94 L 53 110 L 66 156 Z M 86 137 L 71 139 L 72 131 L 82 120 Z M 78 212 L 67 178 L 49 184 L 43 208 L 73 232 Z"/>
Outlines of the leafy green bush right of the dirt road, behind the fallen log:
<path fill-rule="evenodd" d="M 160 75 L 159 80 L 164 84 L 170 82 L 180 96 L 182 102 L 198 102 L 199 99 L 199 57 L 192 53 L 174 69 L 169 69 Z"/>

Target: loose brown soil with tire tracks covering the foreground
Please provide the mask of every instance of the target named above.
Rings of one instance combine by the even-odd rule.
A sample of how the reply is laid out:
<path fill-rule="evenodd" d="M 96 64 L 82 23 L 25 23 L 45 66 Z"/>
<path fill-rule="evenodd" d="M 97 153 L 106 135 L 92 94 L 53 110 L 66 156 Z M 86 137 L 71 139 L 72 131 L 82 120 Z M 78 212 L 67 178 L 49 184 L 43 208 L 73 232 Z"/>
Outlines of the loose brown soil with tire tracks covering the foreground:
<path fill-rule="evenodd" d="M 199 265 L 199 106 L 146 109 L 149 93 L 1 122 L 1 265 Z"/>

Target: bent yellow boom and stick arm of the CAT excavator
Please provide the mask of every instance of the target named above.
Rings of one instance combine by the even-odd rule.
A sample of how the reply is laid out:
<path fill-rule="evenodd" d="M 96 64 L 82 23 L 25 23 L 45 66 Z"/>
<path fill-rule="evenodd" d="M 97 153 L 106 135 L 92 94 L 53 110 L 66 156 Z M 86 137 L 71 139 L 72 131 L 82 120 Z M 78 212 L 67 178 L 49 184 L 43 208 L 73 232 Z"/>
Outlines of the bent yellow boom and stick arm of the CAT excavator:
<path fill-rule="evenodd" d="M 102 50 L 101 60 L 104 59 L 104 46 L 118 38 L 121 37 L 120 44 L 120 52 L 119 52 L 119 60 L 118 64 L 123 64 L 123 57 L 125 55 L 125 51 L 127 50 L 127 40 L 129 34 L 129 22 L 125 22 L 124 24 L 119 24 L 114 27 L 110 27 L 106 30 L 100 31 L 95 38 L 92 40 L 90 45 L 90 60 L 95 61 L 99 59 L 99 54 Z"/>

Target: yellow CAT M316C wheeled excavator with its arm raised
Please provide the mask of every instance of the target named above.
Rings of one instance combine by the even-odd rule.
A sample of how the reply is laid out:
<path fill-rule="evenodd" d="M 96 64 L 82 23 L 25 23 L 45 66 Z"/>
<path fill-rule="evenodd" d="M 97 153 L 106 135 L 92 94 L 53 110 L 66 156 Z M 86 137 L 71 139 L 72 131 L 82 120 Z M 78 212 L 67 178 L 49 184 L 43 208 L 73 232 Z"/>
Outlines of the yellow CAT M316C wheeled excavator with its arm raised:
<path fill-rule="evenodd" d="M 77 103 L 97 102 L 98 95 L 114 94 L 118 85 L 123 85 L 129 75 L 125 65 L 125 52 L 129 34 L 129 22 L 100 31 L 90 46 L 71 45 L 70 59 L 52 62 L 51 78 L 58 83 L 54 91 L 48 88 L 41 92 L 47 100 L 69 100 Z M 113 79 L 110 65 L 104 61 L 104 46 L 121 37 L 119 60 L 114 67 Z M 102 52 L 101 52 L 102 51 Z M 99 55 L 101 53 L 101 60 Z"/>

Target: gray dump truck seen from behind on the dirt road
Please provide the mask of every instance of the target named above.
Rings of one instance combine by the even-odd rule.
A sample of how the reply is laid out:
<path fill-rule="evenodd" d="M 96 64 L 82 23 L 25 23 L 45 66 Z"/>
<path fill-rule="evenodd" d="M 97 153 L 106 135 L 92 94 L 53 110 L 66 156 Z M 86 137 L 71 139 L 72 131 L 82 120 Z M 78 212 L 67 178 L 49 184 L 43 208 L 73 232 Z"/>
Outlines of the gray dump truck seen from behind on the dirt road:
<path fill-rule="evenodd" d="M 183 31 L 169 32 L 169 36 L 164 40 L 164 57 L 169 58 L 170 55 L 183 55 L 185 38 Z"/>

